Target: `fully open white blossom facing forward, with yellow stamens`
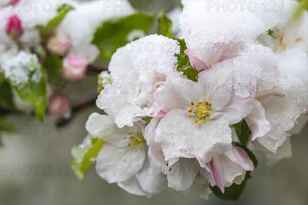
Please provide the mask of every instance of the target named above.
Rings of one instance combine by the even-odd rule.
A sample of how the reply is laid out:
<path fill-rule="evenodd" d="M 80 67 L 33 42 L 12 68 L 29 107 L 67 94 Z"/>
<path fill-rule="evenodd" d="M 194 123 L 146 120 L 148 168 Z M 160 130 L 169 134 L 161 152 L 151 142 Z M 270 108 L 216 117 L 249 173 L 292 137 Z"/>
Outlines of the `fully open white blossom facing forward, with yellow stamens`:
<path fill-rule="evenodd" d="M 166 116 L 160 120 L 155 141 L 160 142 L 165 160 L 196 157 L 200 165 L 232 148 L 228 126 L 236 124 L 253 108 L 252 97 L 242 98 L 224 89 L 208 89 L 209 85 L 231 82 L 230 75 L 220 69 L 199 73 L 198 82 L 185 78 L 167 78 L 171 93 L 157 91 L 156 112 Z M 219 131 L 220 130 L 220 131 Z M 205 134 L 206 133 L 206 134 Z M 189 137 L 188 137 L 188 136 Z"/>

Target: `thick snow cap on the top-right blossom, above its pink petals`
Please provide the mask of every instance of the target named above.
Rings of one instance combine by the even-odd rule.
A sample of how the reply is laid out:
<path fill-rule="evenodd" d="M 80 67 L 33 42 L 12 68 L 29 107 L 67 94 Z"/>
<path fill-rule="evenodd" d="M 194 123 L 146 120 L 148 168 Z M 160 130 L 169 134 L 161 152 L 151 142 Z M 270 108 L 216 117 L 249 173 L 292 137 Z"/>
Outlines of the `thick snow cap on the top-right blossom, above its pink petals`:
<path fill-rule="evenodd" d="M 293 1 L 275 1 L 275 12 L 264 9 L 263 2 L 236 3 L 236 10 L 218 8 L 211 1 L 182 1 L 182 37 L 191 49 L 206 49 L 208 44 L 252 42 L 273 27 L 282 27 L 295 6 Z M 222 2 L 224 5 L 227 1 Z M 217 2 L 218 4 L 218 2 Z M 248 5 L 254 5 L 254 8 Z M 197 52 L 197 51 L 196 51 Z"/>

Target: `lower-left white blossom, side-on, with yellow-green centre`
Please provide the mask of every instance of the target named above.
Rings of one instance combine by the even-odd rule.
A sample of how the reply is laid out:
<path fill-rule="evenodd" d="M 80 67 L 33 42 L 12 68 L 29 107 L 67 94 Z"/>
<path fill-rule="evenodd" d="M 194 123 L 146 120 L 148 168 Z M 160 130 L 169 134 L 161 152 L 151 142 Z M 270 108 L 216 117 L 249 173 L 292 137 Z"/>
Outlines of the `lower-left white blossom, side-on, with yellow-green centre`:
<path fill-rule="evenodd" d="M 151 196 L 162 192 L 167 180 L 146 155 L 143 126 L 142 122 L 136 122 L 133 127 L 120 129 L 112 117 L 98 113 L 92 113 L 86 123 L 91 135 L 106 141 L 97 157 L 100 177 L 109 183 L 117 182 L 131 194 Z M 152 174 L 146 172 L 147 167 L 153 169 Z"/>

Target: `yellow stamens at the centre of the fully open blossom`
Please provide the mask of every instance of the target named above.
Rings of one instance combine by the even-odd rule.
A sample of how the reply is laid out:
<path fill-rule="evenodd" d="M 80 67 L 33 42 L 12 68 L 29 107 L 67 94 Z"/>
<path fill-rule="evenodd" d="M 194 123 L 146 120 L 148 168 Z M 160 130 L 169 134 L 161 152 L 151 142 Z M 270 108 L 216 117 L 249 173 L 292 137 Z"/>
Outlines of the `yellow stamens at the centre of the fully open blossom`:
<path fill-rule="evenodd" d="M 190 105 L 194 107 L 188 110 L 188 112 L 190 113 L 189 117 L 197 117 L 197 119 L 194 122 L 195 125 L 197 125 L 198 123 L 202 125 L 204 120 L 209 119 L 209 116 L 211 114 L 210 112 L 211 103 L 208 103 L 208 101 L 205 101 L 205 103 L 199 101 L 198 105 L 195 107 L 195 103 L 191 101 Z"/>

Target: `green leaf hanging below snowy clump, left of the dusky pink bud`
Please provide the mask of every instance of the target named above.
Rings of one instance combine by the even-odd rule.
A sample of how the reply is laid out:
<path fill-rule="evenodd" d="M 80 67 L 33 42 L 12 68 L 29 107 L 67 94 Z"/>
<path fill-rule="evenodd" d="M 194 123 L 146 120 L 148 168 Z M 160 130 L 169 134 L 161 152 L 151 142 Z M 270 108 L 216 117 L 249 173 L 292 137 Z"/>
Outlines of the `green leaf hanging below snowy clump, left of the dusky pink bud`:
<path fill-rule="evenodd" d="M 42 72 L 41 81 L 39 83 L 33 83 L 32 81 L 20 83 L 18 85 L 13 85 L 13 89 L 23 101 L 32 104 L 37 118 L 44 121 L 45 109 L 47 106 L 46 73 L 43 68 L 39 69 Z"/>

